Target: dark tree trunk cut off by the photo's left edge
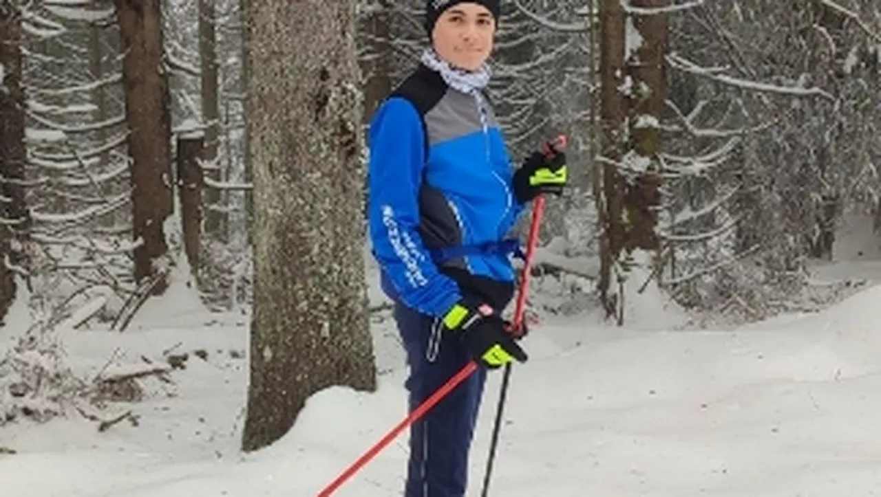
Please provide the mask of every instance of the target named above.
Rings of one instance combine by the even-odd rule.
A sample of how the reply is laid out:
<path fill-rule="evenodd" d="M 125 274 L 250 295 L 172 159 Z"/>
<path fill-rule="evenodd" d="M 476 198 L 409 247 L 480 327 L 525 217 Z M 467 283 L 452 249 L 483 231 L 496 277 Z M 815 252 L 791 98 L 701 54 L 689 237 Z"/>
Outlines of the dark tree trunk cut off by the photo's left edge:
<path fill-rule="evenodd" d="M 4 200 L 0 203 L 0 259 L 10 258 L 11 263 L 21 264 L 19 250 L 12 241 L 23 236 L 27 229 L 25 208 L 25 93 L 21 84 L 21 25 L 18 13 L 10 4 L 0 4 L 0 188 Z M 14 274 L 6 264 L 0 263 L 0 318 L 15 298 Z"/>

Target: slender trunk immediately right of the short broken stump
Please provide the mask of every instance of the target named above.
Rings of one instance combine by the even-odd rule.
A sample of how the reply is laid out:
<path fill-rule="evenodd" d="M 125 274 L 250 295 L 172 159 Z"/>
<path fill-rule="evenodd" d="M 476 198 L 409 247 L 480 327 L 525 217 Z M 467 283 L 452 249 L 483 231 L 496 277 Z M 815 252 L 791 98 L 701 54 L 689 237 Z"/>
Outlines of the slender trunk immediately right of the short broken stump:
<path fill-rule="evenodd" d="M 205 143 L 202 160 L 209 165 L 207 171 L 211 179 L 221 181 L 221 165 L 218 158 L 218 137 L 220 127 L 220 107 L 218 104 L 218 55 L 215 35 L 215 0 L 199 0 L 199 53 L 202 58 L 202 119 L 205 125 Z M 204 201 L 207 206 L 222 205 L 222 193 L 217 188 L 205 188 Z M 225 239 L 225 216 L 222 212 L 207 208 L 205 212 L 205 233 L 220 240 Z"/>

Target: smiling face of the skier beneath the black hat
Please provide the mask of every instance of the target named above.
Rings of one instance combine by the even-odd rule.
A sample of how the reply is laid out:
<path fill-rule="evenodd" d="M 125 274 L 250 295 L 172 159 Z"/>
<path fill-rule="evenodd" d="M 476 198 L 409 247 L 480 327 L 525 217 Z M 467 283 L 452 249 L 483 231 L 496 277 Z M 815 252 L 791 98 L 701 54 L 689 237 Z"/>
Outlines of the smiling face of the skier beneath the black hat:
<path fill-rule="evenodd" d="M 483 5 L 464 2 L 444 11 L 432 32 L 434 51 L 460 69 L 477 70 L 492 53 L 495 19 Z"/>

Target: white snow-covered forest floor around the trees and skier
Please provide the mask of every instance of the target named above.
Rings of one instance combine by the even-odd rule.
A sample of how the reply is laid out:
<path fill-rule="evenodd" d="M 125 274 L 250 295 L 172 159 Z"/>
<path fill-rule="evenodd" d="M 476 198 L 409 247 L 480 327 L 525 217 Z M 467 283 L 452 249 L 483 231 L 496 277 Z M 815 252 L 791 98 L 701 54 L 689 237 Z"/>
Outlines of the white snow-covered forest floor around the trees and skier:
<path fill-rule="evenodd" d="M 825 268 L 829 277 L 848 271 Z M 879 302 L 881 287 L 868 286 L 825 311 L 718 332 L 669 331 L 669 316 L 656 316 L 666 329 L 655 330 L 643 316 L 638 331 L 590 313 L 545 317 L 524 340 L 530 361 L 515 367 L 491 494 L 881 494 Z M 168 376 L 174 384 L 146 379 L 144 401 L 100 413 L 130 410 L 137 426 L 127 419 L 99 433 L 74 413 L 0 428 L 0 452 L 17 451 L 0 455 L 0 494 L 314 496 L 403 416 L 403 353 L 380 314 L 379 391 L 322 391 L 281 441 L 243 455 L 248 317 L 197 305 L 172 315 L 162 303 L 145 315 L 125 333 L 68 334 L 67 360 L 92 377 L 111 357 L 123 368 L 188 353 Z M 499 379 L 479 421 L 474 494 Z M 337 495 L 400 495 L 406 453 L 402 435 Z"/>

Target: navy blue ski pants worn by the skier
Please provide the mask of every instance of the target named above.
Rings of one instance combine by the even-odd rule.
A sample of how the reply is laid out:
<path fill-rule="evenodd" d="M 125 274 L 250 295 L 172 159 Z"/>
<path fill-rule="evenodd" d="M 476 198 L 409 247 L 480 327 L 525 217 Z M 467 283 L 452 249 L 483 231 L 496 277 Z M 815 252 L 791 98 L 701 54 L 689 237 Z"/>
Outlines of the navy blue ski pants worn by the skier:
<path fill-rule="evenodd" d="M 395 320 L 407 351 L 410 409 L 437 391 L 469 361 L 462 343 L 445 332 L 439 319 L 396 304 Z M 410 463 L 404 497 L 463 497 L 468 455 L 486 370 L 468 379 L 411 426 Z"/>

